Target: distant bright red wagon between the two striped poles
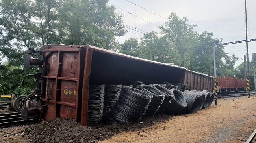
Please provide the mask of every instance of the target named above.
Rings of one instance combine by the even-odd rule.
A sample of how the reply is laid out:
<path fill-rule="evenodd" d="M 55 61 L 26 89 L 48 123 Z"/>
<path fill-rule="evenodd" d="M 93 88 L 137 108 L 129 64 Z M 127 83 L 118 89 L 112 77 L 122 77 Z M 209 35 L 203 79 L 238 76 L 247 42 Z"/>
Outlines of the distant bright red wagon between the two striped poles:
<path fill-rule="evenodd" d="M 243 78 L 219 76 L 218 88 L 219 88 L 219 93 L 229 92 L 229 91 L 246 91 L 247 82 L 246 82 L 246 79 L 243 79 Z"/>

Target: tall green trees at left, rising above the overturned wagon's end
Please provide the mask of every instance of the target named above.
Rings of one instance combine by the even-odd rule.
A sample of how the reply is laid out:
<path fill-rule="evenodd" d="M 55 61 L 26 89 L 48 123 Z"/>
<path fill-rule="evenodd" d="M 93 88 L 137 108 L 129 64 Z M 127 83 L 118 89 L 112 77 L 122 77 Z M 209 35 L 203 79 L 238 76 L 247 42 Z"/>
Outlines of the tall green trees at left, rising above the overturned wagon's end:
<path fill-rule="evenodd" d="M 122 15 L 107 2 L 0 0 L 0 93 L 20 95 L 35 88 L 35 84 L 18 85 L 22 77 L 37 70 L 22 69 L 23 55 L 42 45 L 91 44 L 115 50 L 115 36 L 124 35 L 126 30 Z"/>

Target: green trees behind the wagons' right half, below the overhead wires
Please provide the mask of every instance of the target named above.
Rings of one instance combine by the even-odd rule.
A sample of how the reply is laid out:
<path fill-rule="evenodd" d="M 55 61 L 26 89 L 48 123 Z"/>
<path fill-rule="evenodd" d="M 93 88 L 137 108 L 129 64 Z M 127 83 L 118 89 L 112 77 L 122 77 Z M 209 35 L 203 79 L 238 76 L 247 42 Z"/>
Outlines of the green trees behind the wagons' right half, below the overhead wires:
<path fill-rule="evenodd" d="M 120 52 L 213 75 L 213 33 L 199 34 L 195 27 L 186 17 L 180 19 L 176 13 L 171 13 L 165 26 L 159 26 L 162 36 L 154 31 L 144 34 L 139 44 L 131 38 L 121 45 Z M 223 46 L 215 48 L 217 74 L 234 76 L 235 55 L 228 56 Z"/>

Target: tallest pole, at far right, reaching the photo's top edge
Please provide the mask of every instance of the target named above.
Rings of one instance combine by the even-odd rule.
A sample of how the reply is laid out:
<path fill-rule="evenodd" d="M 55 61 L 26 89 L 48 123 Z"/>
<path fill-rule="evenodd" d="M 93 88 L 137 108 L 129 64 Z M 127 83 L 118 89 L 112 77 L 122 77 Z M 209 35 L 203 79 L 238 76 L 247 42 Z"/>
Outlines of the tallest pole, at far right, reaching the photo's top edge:
<path fill-rule="evenodd" d="M 248 29 L 247 29 L 247 4 L 245 0 L 245 31 L 246 31 L 246 71 L 247 71 L 247 90 L 248 98 L 250 98 L 250 78 L 249 78 L 249 53 L 248 53 Z"/>

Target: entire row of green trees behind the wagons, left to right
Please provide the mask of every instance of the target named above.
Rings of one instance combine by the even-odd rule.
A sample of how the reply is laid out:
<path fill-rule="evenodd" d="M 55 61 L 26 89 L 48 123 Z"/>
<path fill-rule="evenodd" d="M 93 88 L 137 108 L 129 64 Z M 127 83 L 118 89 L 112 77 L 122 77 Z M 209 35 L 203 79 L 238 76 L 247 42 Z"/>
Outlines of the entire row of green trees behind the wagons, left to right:
<path fill-rule="evenodd" d="M 37 68 L 22 69 L 23 55 L 46 44 L 90 44 L 194 71 L 213 74 L 213 33 L 197 33 L 186 17 L 169 15 L 160 34 L 149 32 L 123 44 L 126 33 L 121 14 L 108 0 L 0 0 L 0 93 L 22 95 L 35 88 L 33 79 L 19 87 L 22 77 Z M 232 75 L 237 58 L 216 47 L 217 74 Z M 33 55 L 36 57 L 37 55 Z M 2 62 L 8 61 L 8 62 Z M 184 62 L 183 62 L 184 61 Z"/>

